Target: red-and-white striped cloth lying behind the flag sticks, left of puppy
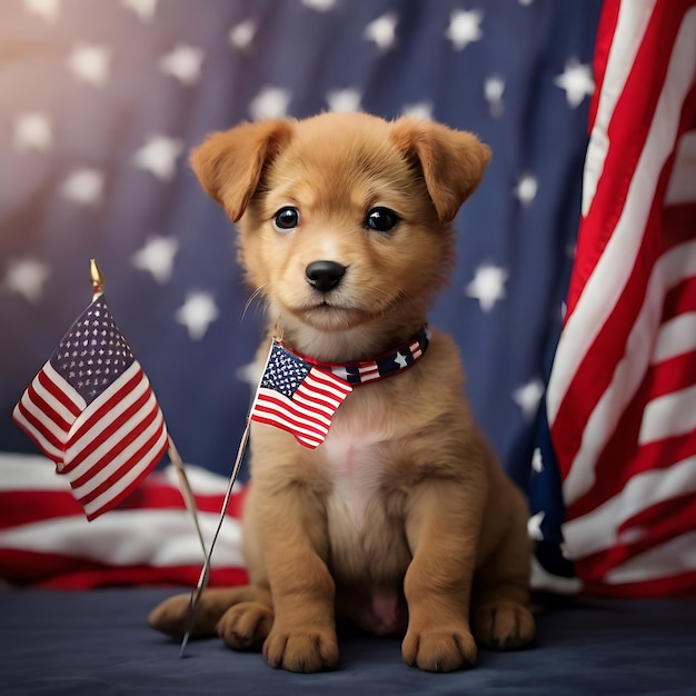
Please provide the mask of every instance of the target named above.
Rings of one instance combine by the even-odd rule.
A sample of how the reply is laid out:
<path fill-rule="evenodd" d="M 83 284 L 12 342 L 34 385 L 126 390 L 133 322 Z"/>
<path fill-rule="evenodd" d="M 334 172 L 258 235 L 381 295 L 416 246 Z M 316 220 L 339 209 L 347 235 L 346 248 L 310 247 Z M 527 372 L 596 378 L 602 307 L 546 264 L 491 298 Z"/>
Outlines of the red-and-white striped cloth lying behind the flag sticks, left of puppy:
<path fill-rule="evenodd" d="M 198 518 L 209 548 L 228 479 L 187 465 Z M 210 584 L 245 584 L 241 511 L 246 487 L 236 484 L 211 558 Z M 59 589 L 108 585 L 196 585 L 200 540 L 169 466 L 91 524 L 68 481 L 40 456 L 0 454 L 0 577 Z"/>

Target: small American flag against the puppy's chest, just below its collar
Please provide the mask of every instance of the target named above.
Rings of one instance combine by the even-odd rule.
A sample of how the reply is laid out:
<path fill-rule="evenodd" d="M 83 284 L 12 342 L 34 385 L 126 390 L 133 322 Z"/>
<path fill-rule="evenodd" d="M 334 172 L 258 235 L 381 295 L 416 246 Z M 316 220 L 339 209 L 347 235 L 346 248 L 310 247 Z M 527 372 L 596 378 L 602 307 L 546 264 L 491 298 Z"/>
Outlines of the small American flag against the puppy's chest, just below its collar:
<path fill-rule="evenodd" d="M 261 377 L 251 420 L 291 432 L 315 449 L 329 431 L 331 418 L 352 387 L 336 375 L 274 345 Z"/>

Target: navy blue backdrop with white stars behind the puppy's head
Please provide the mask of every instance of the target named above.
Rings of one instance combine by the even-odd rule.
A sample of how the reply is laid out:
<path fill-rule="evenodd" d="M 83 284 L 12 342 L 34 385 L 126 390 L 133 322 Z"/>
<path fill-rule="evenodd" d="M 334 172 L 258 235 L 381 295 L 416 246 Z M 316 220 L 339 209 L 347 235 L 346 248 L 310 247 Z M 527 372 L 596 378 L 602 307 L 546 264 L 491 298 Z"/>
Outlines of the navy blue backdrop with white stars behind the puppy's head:
<path fill-rule="evenodd" d="M 187 461 L 228 475 L 260 317 L 187 152 L 253 118 L 420 113 L 494 158 L 431 325 L 528 478 L 579 216 L 600 0 L 9 0 L 0 4 L 0 451 L 11 410 L 106 296 Z"/>

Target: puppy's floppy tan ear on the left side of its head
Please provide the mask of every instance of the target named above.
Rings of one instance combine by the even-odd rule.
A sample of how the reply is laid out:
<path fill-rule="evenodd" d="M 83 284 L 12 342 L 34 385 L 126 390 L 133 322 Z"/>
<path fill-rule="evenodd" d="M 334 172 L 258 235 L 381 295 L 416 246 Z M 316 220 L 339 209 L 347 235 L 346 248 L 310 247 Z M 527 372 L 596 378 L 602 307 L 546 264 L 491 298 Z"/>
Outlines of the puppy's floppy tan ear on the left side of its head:
<path fill-rule="evenodd" d="M 237 222 L 253 196 L 264 167 L 290 140 L 290 121 L 241 123 L 211 133 L 191 152 L 191 167 L 206 192 Z"/>

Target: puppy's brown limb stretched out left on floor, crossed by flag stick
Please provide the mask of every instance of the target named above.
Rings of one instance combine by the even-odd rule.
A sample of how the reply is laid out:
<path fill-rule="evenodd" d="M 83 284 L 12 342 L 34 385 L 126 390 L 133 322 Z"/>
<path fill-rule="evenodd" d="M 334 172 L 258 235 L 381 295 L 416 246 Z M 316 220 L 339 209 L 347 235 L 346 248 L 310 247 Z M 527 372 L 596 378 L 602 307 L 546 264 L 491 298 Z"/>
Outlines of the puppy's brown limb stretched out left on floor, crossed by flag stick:
<path fill-rule="evenodd" d="M 252 585 L 205 589 L 196 610 L 191 637 L 215 636 L 218 622 L 229 607 L 238 603 L 255 601 L 258 598 L 259 588 Z M 181 638 L 187 629 L 190 603 L 191 593 L 169 597 L 150 612 L 148 624 L 156 630 Z"/>

